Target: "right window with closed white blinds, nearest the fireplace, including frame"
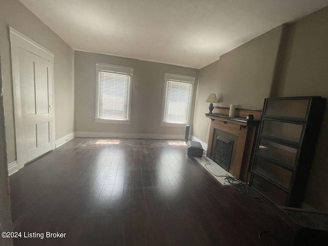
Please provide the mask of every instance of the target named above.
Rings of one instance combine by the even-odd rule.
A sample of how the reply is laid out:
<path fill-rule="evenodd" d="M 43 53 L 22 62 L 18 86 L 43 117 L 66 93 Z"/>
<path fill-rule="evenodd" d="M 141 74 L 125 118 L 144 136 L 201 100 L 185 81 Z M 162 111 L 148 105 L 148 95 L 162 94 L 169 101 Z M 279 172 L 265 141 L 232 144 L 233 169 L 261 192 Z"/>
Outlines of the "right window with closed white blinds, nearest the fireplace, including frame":
<path fill-rule="evenodd" d="M 165 99 L 163 101 L 162 124 L 188 124 L 195 78 L 165 74 Z"/>

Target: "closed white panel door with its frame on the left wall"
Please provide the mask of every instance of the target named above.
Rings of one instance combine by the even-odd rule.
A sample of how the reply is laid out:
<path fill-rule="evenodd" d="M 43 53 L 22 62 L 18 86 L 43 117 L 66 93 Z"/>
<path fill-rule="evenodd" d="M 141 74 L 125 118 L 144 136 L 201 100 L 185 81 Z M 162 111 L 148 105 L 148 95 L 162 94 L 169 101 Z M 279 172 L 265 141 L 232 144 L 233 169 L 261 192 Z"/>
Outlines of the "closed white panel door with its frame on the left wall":
<path fill-rule="evenodd" d="M 10 29 L 18 168 L 54 149 L 53 55 Z"/>

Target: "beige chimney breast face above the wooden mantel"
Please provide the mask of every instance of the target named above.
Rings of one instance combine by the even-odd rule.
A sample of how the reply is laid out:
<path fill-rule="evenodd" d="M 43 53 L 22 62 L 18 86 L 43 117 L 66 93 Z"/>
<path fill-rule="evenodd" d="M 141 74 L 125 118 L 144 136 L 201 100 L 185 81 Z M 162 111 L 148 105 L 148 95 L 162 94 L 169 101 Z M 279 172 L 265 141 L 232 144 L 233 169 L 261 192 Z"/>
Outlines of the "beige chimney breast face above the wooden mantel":
<path fill-rule="evenodd" d="M 221 55 L 216 93 L 218 106 L 261 109 L 269 97 L 283 26 Z"/>

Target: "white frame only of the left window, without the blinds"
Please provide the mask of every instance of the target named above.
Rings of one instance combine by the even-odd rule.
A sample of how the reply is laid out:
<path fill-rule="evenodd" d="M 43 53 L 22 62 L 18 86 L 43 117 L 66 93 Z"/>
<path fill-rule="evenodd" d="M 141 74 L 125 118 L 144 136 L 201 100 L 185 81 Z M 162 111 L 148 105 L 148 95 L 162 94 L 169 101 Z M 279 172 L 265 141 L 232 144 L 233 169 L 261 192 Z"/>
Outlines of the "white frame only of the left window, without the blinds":
<path fill-rule="evenodd" d="M 128 92 L 128 112 L 127 119 L 106 119 L 99 117 L 99 73 L 100 72 L 109 72 L 116 74 L 129 75 L 129 92 Z M 103 63 L 96 63 L 96 112 L 95 112 L 95 122 L 96 123 L 107 123 L 107 124 L 131 124 L 131 105 L 132 105 L 132 77 L 133 77 L 133 68 L 122 67 L 116 65 L 109 65 Z"/>

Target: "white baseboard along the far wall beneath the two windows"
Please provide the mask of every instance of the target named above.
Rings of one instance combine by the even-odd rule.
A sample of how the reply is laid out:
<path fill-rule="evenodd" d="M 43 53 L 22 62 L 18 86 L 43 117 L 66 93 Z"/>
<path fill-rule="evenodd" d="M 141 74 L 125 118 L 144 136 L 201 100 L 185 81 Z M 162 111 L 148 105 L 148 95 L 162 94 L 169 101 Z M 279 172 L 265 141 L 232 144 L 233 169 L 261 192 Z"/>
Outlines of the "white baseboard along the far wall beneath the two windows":
<path fill-rule="evenodd" d="M 75 132 L 75 137 L 106 137 L 106 138 L 148 138 L 182 140 L 185 135 L 150 134 L 150 133 L 114 133 L 114 132 Z"/>

